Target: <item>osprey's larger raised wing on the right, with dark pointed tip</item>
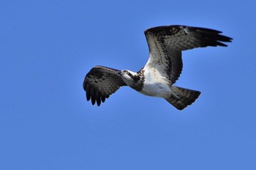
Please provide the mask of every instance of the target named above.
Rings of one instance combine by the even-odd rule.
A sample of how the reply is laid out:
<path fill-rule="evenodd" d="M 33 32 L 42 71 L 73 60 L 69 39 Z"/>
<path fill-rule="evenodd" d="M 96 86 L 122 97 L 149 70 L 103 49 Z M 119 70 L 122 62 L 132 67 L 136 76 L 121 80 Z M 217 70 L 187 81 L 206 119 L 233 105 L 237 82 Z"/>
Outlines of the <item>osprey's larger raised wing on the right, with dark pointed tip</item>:
<path fill-rule="evenodd" d="M 227 46 L 231 38 L 220 35 L 221 31 L 192 26 L 158 26 L 145 31 L 149 47 L 149 59 L 144 68 L 157 69 L 172 84 L 182 71 L 181 51 L 196 47 Z"/>

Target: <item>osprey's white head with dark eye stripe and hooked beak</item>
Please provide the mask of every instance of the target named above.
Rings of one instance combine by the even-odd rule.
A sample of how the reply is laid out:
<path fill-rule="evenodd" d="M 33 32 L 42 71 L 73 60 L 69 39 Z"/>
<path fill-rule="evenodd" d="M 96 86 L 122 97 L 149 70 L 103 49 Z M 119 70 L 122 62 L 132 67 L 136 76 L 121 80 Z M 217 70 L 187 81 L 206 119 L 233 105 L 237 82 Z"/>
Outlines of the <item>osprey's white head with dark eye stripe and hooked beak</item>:
<path fill-rule="evenodd" d="M 118 71 L 117 73 L 120 74 L 122 80 L 124 80 L 127 85 L 132 85 L 140 80 L 138 73 L 129 71 L 127 69 Z"/>

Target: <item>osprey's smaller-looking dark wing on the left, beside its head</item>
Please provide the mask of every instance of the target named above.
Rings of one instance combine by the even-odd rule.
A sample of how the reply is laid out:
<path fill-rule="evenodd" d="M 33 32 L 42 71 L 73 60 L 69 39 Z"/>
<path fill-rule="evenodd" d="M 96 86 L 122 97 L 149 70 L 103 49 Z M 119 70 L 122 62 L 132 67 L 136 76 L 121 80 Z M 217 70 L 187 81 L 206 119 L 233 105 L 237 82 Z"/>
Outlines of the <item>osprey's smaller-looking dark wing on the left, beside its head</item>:
<path fill-rule="evenodd" d="M 91 99 L 91 104 L 99 106 L 112 93 L 126 83 L 117 73 L 117 69 L 111 69 L 105 66 L 94 66 L 83 81 L 83 89 L 86 90 L 87 101 Z"/>

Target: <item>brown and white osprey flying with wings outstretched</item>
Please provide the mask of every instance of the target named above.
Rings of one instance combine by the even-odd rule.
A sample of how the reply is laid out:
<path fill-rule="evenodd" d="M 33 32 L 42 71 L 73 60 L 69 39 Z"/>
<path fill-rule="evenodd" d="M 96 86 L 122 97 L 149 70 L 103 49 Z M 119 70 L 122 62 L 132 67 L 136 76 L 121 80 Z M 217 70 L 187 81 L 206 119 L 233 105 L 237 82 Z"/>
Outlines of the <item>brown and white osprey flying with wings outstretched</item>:
<path fill-rule="evenodd" d="M 146 96 L 165 98 L 177 109 L 184 109 L 200 95 L 200 91 L 173 84 L 182 71 L 181 51 L 196 47 L 227 45 L 232 38 L 221 31 L 192 26 L 158 26 L 144 31 L 148 42 L 148 62 L 139 72 L 94 66 L 83 81 L 87 101 L 99 106 L 121 86 L 129 86 Z"/>

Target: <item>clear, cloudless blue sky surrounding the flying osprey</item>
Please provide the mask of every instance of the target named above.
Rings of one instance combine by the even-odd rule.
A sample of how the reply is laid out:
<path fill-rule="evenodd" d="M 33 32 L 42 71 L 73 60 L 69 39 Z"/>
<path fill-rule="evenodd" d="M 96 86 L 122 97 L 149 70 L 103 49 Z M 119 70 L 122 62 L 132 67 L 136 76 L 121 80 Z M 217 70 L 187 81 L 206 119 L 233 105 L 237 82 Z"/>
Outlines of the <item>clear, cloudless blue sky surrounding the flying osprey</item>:
<path fill-rule="evenodd" d="M 0 169 L 256 169 L 254 1 L 0 1 Z M 121 88 L 92 106 L 95 65 L 138 71 L 143 31 L 182 24 L 233 37 L 183 53 L 183 111 Z"/>

